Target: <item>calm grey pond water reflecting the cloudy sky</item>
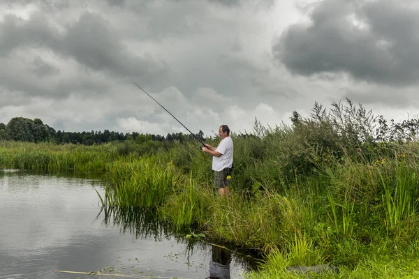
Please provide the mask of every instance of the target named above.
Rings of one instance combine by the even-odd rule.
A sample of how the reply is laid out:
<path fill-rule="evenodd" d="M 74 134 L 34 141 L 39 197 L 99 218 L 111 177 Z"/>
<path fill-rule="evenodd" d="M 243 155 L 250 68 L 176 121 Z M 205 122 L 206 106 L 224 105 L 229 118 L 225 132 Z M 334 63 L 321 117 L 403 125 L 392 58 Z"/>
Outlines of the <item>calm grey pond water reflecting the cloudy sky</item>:
<path fill-rule="evenodd" d="M 242 278 L 240 257 L 175 238 L 147 223 L 149 213 L 100 213 L 95 188 L 101 192 L 101 185 L 99 179 L 0 170 L 0 279 L 87 278 L 57 270 Z"/>

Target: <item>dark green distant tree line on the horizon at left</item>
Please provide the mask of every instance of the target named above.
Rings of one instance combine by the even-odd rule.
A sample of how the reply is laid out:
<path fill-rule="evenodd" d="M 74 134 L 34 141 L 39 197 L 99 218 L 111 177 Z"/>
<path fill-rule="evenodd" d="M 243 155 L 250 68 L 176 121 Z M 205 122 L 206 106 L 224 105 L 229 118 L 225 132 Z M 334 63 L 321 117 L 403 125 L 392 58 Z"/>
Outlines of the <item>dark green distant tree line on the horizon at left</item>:
<path fill-rule="evenodd" d="M 136 142 L 173 142 L 175 140 L 184 142 L 191 140 L 192 135 L 183 133 L 168 133 L 163 135 L 140 134 L 140 133 L 118 133 L 110 130 L 101 130 L 90 132 L 66 132 L 64 130 L 55 130 L 44 124 L 41 119 L 28 119 L 24 117 L 15 117 L 10 119 L 7 124 L 0 123 L 0 141 L 14 140 L 20 142 L 53 142 L 55 144 L 103 144 L 106 142 L 135 140 Z M 202 130 L 196 134 L 200 140 L 204 140 Z"/>

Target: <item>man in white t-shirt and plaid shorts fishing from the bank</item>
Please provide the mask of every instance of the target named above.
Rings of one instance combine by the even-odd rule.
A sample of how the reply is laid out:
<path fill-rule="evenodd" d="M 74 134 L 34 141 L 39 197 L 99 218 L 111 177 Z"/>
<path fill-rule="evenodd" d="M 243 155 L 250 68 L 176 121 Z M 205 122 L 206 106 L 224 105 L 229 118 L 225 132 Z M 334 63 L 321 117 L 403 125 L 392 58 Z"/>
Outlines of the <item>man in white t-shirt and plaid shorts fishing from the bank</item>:
<path fill-rule="evenodd" d="M 221 125 L 219 128 L 221 142 L 219 146 L 214 147 L 205 144 L 203 151 L 212 155 L 212 170 L 214 170 L 214 188 L 217 188 L 221 197 L 228 197 L 228 176 L 233 167 L 233 140 L 230 137 L 230 128 L 227 125 Z"/>

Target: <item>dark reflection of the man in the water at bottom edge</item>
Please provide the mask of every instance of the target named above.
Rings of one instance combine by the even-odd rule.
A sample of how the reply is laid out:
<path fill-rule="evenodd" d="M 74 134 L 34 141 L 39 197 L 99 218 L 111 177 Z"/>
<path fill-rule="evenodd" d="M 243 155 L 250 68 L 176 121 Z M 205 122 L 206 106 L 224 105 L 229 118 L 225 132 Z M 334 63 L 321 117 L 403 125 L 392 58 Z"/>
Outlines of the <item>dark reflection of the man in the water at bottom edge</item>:
<path fill-rule="evenodd" d="M 230 279 L 231 252 L 217 246 L 211 247 L 210 277 L 206 279 Z"/>

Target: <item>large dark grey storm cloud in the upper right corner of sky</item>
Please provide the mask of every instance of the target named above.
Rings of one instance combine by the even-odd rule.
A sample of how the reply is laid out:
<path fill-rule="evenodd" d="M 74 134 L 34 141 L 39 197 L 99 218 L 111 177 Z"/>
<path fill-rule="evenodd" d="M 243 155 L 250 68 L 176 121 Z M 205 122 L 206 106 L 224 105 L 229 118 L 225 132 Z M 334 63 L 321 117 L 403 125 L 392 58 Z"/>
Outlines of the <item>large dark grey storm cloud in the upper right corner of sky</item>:
<path fill-rule="evenodd" d="M 274 41 L 274 58 L 304 76 L 347 73 L 405 86 L 419 78 L 419 10 L 410 1 L 324 0 Z"/>

